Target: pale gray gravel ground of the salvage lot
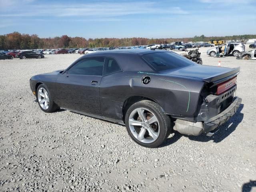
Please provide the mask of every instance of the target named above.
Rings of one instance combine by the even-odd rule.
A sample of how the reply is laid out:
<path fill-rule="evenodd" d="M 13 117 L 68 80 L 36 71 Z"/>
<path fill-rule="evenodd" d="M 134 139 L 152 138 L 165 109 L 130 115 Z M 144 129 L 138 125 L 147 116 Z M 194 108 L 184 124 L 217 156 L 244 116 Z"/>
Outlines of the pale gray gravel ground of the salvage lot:
<path fill-rule="evenodd" d="M 0 60 L 0 191 L 255 192 L 256 60 L 212 58 L 207 49 L 203 64 L 241 67 L 239 111 L 214 137 L 175 132 L 156 149 L 135 144 L 124 126 L 40 110 L 30 77 L 81 55 Z"/>

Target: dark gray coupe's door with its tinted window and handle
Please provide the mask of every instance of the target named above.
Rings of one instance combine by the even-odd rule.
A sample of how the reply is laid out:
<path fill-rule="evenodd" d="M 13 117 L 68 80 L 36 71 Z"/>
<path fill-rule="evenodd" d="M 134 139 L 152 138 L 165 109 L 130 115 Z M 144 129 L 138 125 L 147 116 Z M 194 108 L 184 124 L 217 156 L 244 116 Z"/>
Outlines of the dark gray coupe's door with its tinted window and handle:
<path fill-rule="evenodd" d="M 56 104 L 69 110 L 100 113 L 100 81 L 104 58 L 83 58 L 56 80 Z"/>

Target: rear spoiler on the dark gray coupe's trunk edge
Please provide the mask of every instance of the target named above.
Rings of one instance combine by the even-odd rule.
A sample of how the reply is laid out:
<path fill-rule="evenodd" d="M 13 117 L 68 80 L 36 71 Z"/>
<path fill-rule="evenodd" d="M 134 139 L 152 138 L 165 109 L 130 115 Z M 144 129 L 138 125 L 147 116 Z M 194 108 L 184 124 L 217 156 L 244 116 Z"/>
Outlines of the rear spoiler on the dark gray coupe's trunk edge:
<path fill-rule="evenodd" d="M 219 84 L 220 82 L 229 80 L 233 78 L 234 76 L 237 76 L 240 73 L 240 67 L 232 68 L 228 72 L 222 72 L 219 74 L 216 74 L 214 76 L 210 76 L 207 78 L 202 79 L 204 82 L 213 82 L 214 85 Z"/>

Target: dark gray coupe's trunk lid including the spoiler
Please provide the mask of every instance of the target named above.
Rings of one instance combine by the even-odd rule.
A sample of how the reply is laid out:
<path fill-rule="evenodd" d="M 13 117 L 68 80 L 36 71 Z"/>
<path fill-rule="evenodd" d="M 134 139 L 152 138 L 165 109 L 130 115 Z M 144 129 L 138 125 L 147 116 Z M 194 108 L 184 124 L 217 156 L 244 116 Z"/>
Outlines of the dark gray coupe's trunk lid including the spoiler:
<path fill-rule="evenodd" d="M 239 72 L 239 70 L 240 68 L 226 68 L 196 64 L 185 68 L 179 68 L 177 70 L 162 71 L 162 73 L 212 82 L 221 78 L 226 78 L 227 76 L 231 76 Z"/>

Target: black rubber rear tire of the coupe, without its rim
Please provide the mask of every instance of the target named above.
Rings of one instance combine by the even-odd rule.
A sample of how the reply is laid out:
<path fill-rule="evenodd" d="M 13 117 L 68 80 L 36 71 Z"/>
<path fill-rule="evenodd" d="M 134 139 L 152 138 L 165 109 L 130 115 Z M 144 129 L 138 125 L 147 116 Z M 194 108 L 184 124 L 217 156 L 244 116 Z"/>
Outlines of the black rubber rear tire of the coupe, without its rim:
<path fill-rule="evenodd" d="M 132 113 L 132 111 L 135 110 L 136 108 L 146 108 L 146 109 L 152 111 L 154 113 L 154 115 L 156 116 L 156 118 L 158 119 L 159 135 L 158 135 L 158 138 L 156 138 L 156 140 L 154 140 L 154 142 L 151 142 L 151 143 L 140 142 L 132 134 L 132 132 L 130 130 L 130 126 L 129 126 L 129 116 Z M 134 140 L 137 144 L 144 146 L 144 147 L 148 147 L 148 148 L 156 148 L 156 147 L 160 146 L 164 142 L 164 140 L 166 140 L 166 138 L 169 136 L 169 134 L 171 132 L 170 117 L 167 116 L 166 114 L 164 114 L 164 112 L 162 111 L 161 107 L 158 104 L 156 104 L 155 102 L 149 101 L 149 100 L 142 100 L 142 101 L 132 104 L 132 106 L 130 106 L 130 108 L 128 108 L 128 110 L 126 112 L 125 122 L 126 122 L 125 123 L 126 130 L 127 130 L 128 134 L 130 135 L 130 137 L 132 138 L 132 140 Z"/>

